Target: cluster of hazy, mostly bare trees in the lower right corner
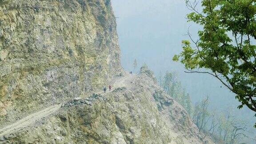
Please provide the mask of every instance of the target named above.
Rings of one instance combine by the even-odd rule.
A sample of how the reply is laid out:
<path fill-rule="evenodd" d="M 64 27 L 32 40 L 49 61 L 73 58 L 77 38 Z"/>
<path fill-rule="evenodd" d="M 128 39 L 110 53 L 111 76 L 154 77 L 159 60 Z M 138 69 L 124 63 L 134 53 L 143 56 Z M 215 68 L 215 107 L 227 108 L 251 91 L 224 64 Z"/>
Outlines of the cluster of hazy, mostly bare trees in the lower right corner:
<path fill-rule="evenodd" d="M 216 112 L 209 109 L 209 97 L 195 105 L 193 120 L 205 135 L 211 136 L 217 143 L 240 144 L 247 136 L 248 125 L 231 112 Z M 255 141 L 255 140 L 254 140 Z M 256 142 L 256 141 L 255 141 Z"/>

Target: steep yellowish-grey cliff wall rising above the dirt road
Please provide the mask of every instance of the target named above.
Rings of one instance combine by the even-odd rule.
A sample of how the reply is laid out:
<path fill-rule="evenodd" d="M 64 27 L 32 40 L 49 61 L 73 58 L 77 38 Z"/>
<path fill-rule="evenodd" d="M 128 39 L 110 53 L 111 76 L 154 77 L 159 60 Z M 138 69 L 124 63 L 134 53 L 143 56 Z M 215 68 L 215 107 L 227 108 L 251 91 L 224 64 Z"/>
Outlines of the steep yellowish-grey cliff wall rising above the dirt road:
<path fill-rule="evenodd" d="M 1 124 L 122 71 L 110 0 L 0 1 Z"/>

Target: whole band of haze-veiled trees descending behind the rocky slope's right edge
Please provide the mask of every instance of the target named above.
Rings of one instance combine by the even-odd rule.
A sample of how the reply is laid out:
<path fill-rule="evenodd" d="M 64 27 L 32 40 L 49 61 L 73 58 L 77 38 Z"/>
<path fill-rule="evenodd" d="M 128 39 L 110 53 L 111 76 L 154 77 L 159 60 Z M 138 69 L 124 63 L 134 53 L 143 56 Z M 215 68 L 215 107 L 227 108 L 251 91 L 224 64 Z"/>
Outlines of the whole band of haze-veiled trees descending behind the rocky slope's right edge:
<path fill-rule="evenodd" d="M 163 78 L 160 73 L 158 84 L 185 108 L 199 131 L 203 132 L 205 136 L 212 137 L 215 142 L 238 144 L 244 139 L 255 141 L 247 136 L 248 125 L 244 121 L 239 120 L 229 111 L 213 111 L 210 108 L 209 96 L 192 106 L 189 94 L 182 88 L 180 80 L 174 72 L 166 72 Z"/>

